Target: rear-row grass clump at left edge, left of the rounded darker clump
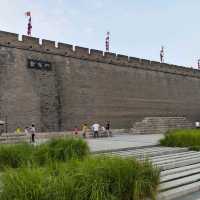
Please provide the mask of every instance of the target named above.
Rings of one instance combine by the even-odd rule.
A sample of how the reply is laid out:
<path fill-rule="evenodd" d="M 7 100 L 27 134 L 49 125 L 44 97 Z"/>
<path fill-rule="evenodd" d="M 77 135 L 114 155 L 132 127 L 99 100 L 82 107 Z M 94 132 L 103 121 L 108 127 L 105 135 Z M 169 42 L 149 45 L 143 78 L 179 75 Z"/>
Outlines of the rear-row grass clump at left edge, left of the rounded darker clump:
<path fill-rule="evenodd" d="M 0 169 L 18 168 L 31 160 L 33 146 L 27 143 L 0 146 Z"/>

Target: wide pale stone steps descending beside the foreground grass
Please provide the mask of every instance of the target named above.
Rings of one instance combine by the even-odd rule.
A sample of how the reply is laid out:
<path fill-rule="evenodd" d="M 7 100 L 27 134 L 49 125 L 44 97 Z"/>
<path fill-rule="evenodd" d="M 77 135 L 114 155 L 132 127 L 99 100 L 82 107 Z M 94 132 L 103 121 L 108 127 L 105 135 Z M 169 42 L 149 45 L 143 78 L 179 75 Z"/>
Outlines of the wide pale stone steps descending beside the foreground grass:
<path fill-rule="evenodd" d="M 148 159 L 158 167 L 161 170 L 158 200 L 172 200 L 200 191 L 200 152 L 156 146 L 108 155 Z"/>

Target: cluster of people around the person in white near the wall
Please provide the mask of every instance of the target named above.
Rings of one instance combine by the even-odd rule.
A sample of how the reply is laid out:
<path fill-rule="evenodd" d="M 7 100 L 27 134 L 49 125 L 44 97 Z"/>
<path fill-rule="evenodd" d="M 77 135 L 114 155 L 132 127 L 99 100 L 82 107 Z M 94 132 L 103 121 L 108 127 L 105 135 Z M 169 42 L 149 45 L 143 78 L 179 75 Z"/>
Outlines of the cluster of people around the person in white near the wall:
<path fill-rule="evenodd" d="M 89 129 L 87 124 L 83 124 L 82 126 L 82 136 L 84 138 L 89 136 L 90 130 L 92 131 L 92 135 L 94 138 L 100 137 L 100 136 L 107 136 L 107 137 L 111 137 L 112 136 L 112 132 L 110 131 L 110 121 L 107 121 L 105 124 L 105 127 L 100 125 L 99 123 L 95 122 L 92 126 L 91 129 Z M 79 130 L 78 127 L 76 126 L 74 129 L 74 134 L 78 135 L 79 134 Z"/>

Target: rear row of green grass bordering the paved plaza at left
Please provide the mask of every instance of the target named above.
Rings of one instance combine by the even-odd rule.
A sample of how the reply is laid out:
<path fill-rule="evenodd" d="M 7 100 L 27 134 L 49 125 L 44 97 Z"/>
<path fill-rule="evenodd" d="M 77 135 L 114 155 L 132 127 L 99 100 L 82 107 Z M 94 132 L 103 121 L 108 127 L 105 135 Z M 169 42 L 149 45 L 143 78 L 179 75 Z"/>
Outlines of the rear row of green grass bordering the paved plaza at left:
<path fill-rule="evenodd" d="M 87 143 L 80 138 L 67 137 L 53 139 L 45 144 L 2 145 L 0 147 L 0 169 L 18 168 L 24 165 L 45 165 L 50 162 L 66 162 L 71 159 L 82 159 L 89 154 Z"/>

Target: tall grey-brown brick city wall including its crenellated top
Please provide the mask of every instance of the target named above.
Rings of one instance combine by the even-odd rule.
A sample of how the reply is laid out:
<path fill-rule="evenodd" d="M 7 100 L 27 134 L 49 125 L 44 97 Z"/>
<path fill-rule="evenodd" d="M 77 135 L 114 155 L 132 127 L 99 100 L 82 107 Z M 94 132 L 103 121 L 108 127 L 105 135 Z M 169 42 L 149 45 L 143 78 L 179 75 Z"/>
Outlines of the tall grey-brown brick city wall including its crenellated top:
<path fill-rule="evenodd" d="M 29 60 L 51 64 L 28 67 Z M 0 113 L 9 129 L 41 131 L 111 120 L 131 127 L 147 116 L 200 119 L 200 72 L 114 53 L 0 32 Z"/>

